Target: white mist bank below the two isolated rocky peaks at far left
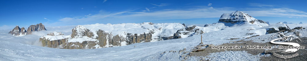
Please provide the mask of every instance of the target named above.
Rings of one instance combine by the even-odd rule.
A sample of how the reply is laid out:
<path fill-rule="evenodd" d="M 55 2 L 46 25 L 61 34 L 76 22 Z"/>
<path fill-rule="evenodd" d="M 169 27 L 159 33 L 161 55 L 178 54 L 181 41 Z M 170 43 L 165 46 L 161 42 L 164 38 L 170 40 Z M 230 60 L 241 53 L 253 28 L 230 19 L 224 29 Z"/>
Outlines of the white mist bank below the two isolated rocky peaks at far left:
<path fill-rule="evenodd" d="M 0 41 L 9 41 L 9 42 L 16 42 L 22 44 L 29 44 L 35 46 L 42 46 L 42 43 L 39 41 L 41 36 L 45 36 L 50 32 L 62 32 L 64 35 L 72 34 L 72 29 L 76 27 L 76 25 L 70 26 L 46 26 L 47 30 L 42 31 L 33 31 L 32 34 L 28 34 L 21 37 L 16 37 L 11 34 L 8 34 L 11 29 L 0 30 Z"/>

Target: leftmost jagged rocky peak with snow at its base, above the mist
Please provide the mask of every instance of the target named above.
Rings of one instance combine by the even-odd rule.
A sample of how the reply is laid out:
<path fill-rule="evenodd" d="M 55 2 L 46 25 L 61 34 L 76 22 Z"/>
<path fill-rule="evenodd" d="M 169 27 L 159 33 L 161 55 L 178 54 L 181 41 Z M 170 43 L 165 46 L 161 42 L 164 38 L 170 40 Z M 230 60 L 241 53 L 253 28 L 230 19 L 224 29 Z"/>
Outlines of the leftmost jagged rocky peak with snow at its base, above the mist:
<path fill-rule="evenodd" d="M 14 36 L 23 36 L 26 35 L 26 30 L 24 27 L 19 28 L 18 26 L 16 26 L 14 29 L 12 29 L 9 34 L 12 34 Z"/>

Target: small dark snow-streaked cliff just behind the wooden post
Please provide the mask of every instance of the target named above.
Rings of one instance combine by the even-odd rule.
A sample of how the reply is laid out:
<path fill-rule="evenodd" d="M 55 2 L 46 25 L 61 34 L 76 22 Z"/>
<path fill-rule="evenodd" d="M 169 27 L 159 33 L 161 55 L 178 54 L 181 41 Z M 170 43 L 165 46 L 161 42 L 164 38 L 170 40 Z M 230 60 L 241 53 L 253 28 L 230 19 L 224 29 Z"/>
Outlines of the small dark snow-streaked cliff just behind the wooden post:
<path fill-rule="evenodd" d="M 189 26 L 183 29 L 177 30 L 176 34 L 174 34 L 173 39 L 177 38 L 186 38 L 197 34 L 203 34 L 204 31 L 200 30 L 197 26 Z"/>

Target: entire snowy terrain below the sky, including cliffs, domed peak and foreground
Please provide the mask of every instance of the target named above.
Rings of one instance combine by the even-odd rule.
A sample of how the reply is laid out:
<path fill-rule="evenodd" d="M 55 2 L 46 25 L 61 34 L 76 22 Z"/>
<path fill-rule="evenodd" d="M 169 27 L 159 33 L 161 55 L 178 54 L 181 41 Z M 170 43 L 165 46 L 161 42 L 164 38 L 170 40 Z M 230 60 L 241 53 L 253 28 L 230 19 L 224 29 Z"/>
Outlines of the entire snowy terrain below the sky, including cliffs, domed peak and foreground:
<path fill-rule="evenodd" d="M 286 36 L 307 37 L 307 27 L 304 26 L 307 24 L 267 23 L 236 11 L 223 14 L 219 22 L 206 27 L 190 24 L 185 27 L 182 23 L 96 23 L 46 26 L 46 30 L 20 37 L 8 34 L 11 30 L 0 30 L 0 60 L 258 61 L 273 55 L 264 54 L 265 49 L 260 52 L 195 50 L 210 47 L 197 48 L 200 45 L 248 44 L 250 41 L 251 44 L 265 44 L 270 42 L 272 35 L 282 30 L 285 30 L 282 33 Z M 295 27 L 300 28 L 293 29 Z M 200 44 L 201 41 L 203 44 Z M 191 56 L 199 51 L 210 53 Z"/>

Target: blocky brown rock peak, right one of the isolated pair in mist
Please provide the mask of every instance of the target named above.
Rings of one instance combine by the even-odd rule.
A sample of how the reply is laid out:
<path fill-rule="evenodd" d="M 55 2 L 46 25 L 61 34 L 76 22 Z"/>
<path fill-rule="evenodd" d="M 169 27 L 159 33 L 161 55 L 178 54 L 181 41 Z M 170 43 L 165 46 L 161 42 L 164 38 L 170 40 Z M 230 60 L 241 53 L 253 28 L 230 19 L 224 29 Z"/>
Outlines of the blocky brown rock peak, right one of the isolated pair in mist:
<path fill-rule="evenodd" d="M 42 23 L 31 25 L 28 27 L 27 34 L 32 34 L 32 31 L 41 31 L 46 30 L 45 26 Z"/>

